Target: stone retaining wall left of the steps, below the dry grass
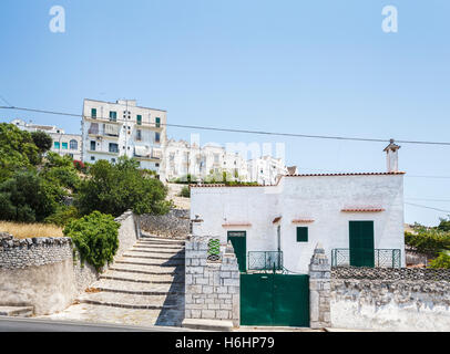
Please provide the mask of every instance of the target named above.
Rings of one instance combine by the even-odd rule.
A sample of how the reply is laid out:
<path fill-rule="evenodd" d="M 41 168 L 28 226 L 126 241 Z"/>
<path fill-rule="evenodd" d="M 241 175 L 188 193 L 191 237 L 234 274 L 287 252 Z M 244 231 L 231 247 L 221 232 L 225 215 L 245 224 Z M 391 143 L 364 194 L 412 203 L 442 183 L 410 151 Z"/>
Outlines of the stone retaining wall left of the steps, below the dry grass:
<path fill-rule="evenodd" d="M 116 258 L 134 244 L 140 229 L 131 211 L 115 220 L 121 223 Z M 68 308 L 98 279 L 91 264 L 81 266 L 70 238 L 14 239 L 0 233 L 0 305 L 33 306 L 37 315 L 51 314 Z"/>

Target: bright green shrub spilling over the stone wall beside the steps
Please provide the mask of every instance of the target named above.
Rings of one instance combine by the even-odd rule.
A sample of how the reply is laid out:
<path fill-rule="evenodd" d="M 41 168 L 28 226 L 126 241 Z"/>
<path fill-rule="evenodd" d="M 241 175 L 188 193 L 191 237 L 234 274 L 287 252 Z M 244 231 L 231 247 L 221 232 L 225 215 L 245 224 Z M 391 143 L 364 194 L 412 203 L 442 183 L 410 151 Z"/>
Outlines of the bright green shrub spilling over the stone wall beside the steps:
<path fill-rule="evenodd" d="M 69 222 L 63 232 L 73 240 L 82 264 L 88 261 L 99 271 L 113 261 L 119 249 L 119 228 L 111 215 L 93 211 Z"/>

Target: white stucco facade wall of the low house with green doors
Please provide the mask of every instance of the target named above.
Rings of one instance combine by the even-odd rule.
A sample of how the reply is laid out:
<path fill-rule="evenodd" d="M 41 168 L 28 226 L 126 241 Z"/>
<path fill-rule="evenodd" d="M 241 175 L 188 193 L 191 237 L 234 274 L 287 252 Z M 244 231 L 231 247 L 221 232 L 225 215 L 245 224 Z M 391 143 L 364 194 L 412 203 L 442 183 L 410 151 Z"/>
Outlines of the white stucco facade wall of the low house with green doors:
<path fill-rule="evenodd" d="M 381 212 L 342 212 L 342 208 L 375 206 Z M 284 266 L 307 272 L 317 242 L 327 257 L 331 249 L 349 248 L 349 221 L 372 220 L 376 249 L 400 249 L 405 267 L 402 175 L 284 177 L 270 187 L 194 187 L 191 217 L 194 235 L 216 236 L 226 241 L 227 231 L 247 232 L 248 251 L 277 250 L 276 217 L 280 220 Z M 313 219 L 293 223 L 294 219 Z M 224 223 L 250 223 L 223 227 Z M 297 226 L 308 227 L 308 242 L 297 242 Z"/>

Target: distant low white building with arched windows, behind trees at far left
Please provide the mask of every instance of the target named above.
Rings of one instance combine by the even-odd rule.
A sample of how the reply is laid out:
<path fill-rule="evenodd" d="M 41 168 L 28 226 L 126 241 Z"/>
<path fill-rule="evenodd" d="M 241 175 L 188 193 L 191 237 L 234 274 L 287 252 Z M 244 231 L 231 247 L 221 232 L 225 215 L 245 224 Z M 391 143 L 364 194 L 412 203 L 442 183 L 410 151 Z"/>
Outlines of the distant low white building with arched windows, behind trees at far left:
<path fill-rule="evenodd" d="M 39 125 L 27 123 L 22 119 L 12 119 L 11 124 L 16 125 L 19 129 L 27 132 L 44 132 L 52 138 L 51 152 L 61 156 L 69 155 L 75 160 L 81 160 L 81 135 L 67 134 L 63 129 L 54 125 Z"/>

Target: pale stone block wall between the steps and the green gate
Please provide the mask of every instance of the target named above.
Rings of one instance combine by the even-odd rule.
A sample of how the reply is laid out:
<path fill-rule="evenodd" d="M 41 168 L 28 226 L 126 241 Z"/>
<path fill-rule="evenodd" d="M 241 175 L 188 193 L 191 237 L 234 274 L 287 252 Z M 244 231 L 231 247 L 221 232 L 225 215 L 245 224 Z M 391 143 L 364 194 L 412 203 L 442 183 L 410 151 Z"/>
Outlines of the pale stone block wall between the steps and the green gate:
<path fill-rule="evenodd" d="M 221 259 L 208 257 L 208 237 L 191 237 L 185 246 L 185 319 L 227 320 L 239 325 L 239 270 L 231 243 Z"/>

